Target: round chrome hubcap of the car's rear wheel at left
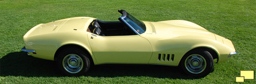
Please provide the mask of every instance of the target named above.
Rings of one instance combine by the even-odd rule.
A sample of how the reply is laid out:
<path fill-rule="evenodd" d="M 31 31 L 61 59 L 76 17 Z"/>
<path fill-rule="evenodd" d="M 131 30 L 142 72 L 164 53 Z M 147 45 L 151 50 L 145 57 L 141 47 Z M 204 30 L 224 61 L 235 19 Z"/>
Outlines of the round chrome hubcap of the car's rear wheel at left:
<path fill-rule="evenodd" d="M 68 54 L 63 58 L 63 68 L 69 73 L 79 73 L 84 66 L 82 58 L 77 54 Z"/>

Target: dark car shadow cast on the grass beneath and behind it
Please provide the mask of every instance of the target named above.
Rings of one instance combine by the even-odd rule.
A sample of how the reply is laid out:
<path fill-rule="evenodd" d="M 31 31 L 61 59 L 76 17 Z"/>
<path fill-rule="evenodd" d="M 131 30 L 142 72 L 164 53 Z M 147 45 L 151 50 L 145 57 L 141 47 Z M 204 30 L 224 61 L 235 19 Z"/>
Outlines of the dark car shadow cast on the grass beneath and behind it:
<path fill-rule="evenodd" d="M 1 76 L 65 77 L 55 61 L 27 56 L 26 52 L 12 52 L 0 59 Z M 93 66 L 89 77 L 155 77 L 171 79 L 195 79 L 180 72 L 174 66 L 104 64 Z"/>

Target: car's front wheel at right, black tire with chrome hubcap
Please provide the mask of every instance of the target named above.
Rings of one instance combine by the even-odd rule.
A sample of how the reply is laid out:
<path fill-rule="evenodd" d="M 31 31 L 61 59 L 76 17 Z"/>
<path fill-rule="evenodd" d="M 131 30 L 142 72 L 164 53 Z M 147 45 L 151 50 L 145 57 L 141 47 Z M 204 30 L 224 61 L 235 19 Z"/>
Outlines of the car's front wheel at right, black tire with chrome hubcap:
<path fill-rule="evenodd" d="M 180 68 L 193 77 L 205 77 L 213 71 L 213 57 L 203 49 L 190 51 L 180 61 Z"/>

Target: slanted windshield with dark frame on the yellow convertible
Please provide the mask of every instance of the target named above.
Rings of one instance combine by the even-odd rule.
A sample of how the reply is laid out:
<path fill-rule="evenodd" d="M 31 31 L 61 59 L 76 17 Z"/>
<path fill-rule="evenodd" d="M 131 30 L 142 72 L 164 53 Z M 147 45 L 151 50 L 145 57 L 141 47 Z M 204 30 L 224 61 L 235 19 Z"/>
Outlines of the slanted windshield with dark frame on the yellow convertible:
<path fill-rule="evenodd" d="M 119 19 L 121 19 L 125 24 L 127 24 L 127 26 L 129 26 L 131 30 L 133 30 L 135 33 L 140 35 L 146 31 L 146 26 L 143 22 L 134 18 L 134 16 L 130 15 L 125 10 L 119 10 L 119 12 L 121 12 L 122 14 L 122 16 Z"/>

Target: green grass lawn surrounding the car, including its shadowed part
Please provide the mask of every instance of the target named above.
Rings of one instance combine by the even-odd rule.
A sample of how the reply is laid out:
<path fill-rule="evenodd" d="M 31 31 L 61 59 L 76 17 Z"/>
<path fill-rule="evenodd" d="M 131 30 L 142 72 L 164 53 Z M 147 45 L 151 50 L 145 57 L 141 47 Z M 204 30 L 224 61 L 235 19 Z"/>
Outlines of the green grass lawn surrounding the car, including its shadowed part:
<path fill-rule="evenodd" d="M 233 41 L 238 52 L 231 60 L 214 64 L 204 78 L 180 73 L 172 66 L 100 65 L 87 75 L 66 77 L 54 61 L 21 52 L 23 35 L 39 23 L 89 16 L 118 20 L 118 9 L 144 21 L 188 20 Z M 256 78 L 256 1 L 0 1 L 0 83 L 236 83 L 240 70 L 254 70 Z M 245 83 L 256 83 L 255 79 Z"/>

